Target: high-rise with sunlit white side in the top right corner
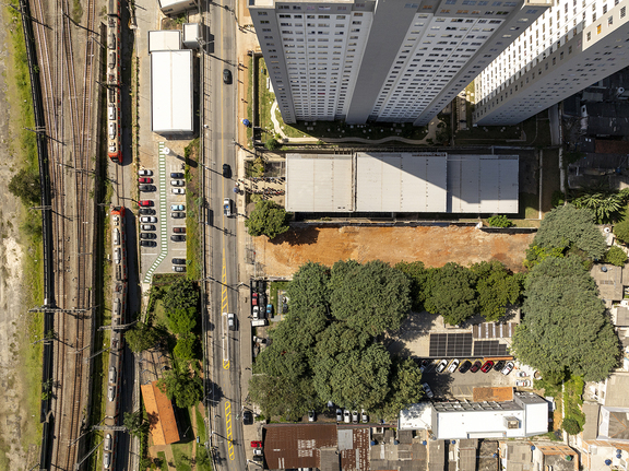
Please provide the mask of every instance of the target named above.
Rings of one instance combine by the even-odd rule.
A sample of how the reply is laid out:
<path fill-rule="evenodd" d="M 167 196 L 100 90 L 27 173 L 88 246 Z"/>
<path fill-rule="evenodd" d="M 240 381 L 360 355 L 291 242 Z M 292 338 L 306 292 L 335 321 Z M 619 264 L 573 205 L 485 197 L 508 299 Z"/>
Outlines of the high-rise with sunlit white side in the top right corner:
<path fill-rule="evenodd" d="M 629 0 L 558 0 L 475 80 L 478 125 L 514 125 L 629 64 Z"/>

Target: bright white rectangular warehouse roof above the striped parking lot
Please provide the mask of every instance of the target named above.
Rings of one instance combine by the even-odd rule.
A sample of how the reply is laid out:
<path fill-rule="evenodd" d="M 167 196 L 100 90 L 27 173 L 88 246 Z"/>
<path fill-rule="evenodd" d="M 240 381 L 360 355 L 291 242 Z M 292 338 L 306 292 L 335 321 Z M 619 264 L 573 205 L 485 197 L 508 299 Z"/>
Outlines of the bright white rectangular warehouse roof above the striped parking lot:
<path fill-rule="evenodd" d="M 151 130 L 190 133 L 192 121 L 192 51 L 151 54 Z"/>

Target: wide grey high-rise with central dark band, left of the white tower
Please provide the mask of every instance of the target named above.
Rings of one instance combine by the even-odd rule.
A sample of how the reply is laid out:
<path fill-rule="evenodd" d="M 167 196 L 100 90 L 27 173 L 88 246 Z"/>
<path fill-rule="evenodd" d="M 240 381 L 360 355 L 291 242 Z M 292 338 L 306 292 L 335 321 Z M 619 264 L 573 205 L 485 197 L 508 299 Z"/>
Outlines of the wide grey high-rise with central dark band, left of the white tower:
<path fill-rule="evenodd" d="M 422 126 L 553 1 L 249 0 L 249 10 L 285 122 Z"/>

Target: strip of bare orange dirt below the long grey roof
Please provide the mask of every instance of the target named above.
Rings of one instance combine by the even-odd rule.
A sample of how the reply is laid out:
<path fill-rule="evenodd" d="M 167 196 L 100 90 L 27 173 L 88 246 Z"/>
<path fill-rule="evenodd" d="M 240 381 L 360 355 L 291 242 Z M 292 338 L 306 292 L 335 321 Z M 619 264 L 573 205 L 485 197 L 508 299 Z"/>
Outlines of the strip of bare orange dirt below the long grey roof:
<path fill-rule="evenodd" d="M 305 227 L 287 232 L 273 243 L 257 237 L 258 273 L 290 276 L 311 260 L 332 266 L 337 260 L 423 261 L 441 267 L 499 260 L 513 271 L 523 269 L 524 251 L 533 234 L 488 234 L 474 227 Z"/>

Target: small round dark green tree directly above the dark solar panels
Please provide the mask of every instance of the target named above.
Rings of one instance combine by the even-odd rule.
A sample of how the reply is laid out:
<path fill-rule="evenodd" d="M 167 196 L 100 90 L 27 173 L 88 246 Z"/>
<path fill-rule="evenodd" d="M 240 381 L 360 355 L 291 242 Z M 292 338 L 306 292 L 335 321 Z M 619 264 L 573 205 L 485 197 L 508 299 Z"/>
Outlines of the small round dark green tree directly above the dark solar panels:
<path fill-rule="evenodd" d="M 441 314 L 451 326 L 463 322 L 478 308 L 475 283 L 474 273 L 458 263 L 449 262 L 431 269 L 426 283 L 426 310 Z"/>

